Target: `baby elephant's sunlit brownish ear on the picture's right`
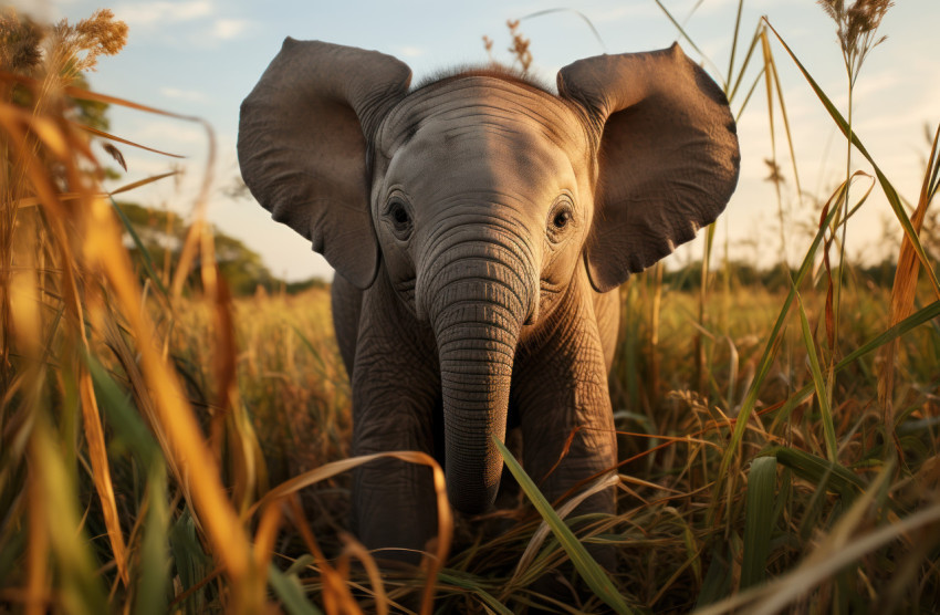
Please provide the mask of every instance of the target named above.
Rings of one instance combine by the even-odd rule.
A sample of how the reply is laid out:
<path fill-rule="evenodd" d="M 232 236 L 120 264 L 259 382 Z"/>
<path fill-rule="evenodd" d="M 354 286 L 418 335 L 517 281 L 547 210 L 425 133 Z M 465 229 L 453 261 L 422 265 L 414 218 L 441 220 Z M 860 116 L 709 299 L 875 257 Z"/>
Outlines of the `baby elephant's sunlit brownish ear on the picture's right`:
<path fill-rule="evenodd" d="M 558 93 L 597 138 L 594 223 L 585 259 L 605 292 L 714 221 L 738 184 L 724 94 L 678 44 L 598 55 L 558 72 Z"/>

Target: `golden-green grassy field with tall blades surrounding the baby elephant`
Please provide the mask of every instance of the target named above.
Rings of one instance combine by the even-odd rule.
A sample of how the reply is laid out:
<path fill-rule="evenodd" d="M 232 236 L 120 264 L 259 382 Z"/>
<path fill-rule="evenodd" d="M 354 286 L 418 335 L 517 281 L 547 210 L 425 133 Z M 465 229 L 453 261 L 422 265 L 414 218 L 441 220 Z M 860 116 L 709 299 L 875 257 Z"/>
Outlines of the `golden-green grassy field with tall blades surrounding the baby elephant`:
<path fill-rule="evenodd" d="M 852 80 L 877 14 L 865 30 L 827 6 Z M 29 37 L 59 51 L 0 73 L 0 612 L 940 609 L 940 285 L 918 239 L 937 139 L 918 202 L 875 180 L 905 230 L 880 288 L 838 258 L 868 156 L 817 91 L 856 145 L 790 285 L 743 284 L 707 251 L 694 290 L 660 267 L 620 290 L 618 514 L 562 521 L 566 502 L 541 505 L 521 477 L 516 509 L 442 512 L 434 554 L 389 569 L 346 531 L 363 460 L 328 293 L 232 298 L 205 195 L 173 267 L 132 261 L 88 149 L 108 136 L 75 112 L 133 106 L 76 87 L 88 50 L 119 51 L 119 24 L 14 19 L 8 51 Z M 782 42 L 764 23 L 735 42 L 735 108 L 745 71 L 774 91 L 771 45 L 798 64 Z M 617 545 L 615 574 L 584 556 L 592 543 Z M 591 591 L 543 595 L 547 572 L 562 594 Z"/>

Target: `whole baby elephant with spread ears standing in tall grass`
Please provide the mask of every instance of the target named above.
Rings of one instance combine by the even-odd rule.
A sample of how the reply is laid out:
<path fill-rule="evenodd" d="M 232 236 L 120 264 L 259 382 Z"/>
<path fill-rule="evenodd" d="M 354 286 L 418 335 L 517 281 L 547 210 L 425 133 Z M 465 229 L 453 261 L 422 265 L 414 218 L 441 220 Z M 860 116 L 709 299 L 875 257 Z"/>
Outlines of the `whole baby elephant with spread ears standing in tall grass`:
<path fill-rule="evenodd" d="M 555 499 L 616 463 L 616 289 L 724 208 L 734 122 L 678 45 L 576 62 L 558 94 L 493 70 L 409 81 L 394 58 L 288 39 L 242 105 L 242 175 L 336 269 L 353 452 L 434 455 L 451 504 L 481 512 L 509 420 Z M 424 549 L 429 469 L 365 466 L 354 511 L 367 546 Z M 578 511 L 613 512 L 614 490 Z"/>

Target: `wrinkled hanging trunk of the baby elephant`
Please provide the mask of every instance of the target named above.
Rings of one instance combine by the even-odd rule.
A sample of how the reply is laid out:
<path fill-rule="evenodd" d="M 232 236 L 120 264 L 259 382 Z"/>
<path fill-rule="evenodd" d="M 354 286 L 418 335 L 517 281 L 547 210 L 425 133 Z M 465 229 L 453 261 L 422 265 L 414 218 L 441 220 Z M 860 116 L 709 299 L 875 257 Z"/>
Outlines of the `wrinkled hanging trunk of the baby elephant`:
<path fill-rule="evenodd" d="M 505 438 L 515 347 L 539 296 L 528 259 L 487 242 L 472 248 L 419 283 L 440 358 L 447 492 L 466 513 L 495 499 L 502 458 L 493 437 Z"/>

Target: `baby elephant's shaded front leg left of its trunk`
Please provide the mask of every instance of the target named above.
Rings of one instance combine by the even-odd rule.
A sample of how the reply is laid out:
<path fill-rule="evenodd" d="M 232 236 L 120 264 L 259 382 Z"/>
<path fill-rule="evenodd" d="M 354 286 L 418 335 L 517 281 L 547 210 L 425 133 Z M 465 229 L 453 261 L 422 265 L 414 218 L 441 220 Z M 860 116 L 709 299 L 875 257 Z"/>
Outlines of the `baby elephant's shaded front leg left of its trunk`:
<path fill-rule="evenodd" d="M 353 375 L 355 456 L 401 450 L 434 456 L 436 354 L 432 342 L 428 347 L 421 335 L 403 331 L 407 321 L 395 313 L 395 301 L 383 298 L 382 288 L 364 296 Z M 437 535 L 431 469 L 391 458 L 361 466 L 353 476 L 353 515 L 359 540 L 383 550 L 376 556 L 417 564 Z"/>

